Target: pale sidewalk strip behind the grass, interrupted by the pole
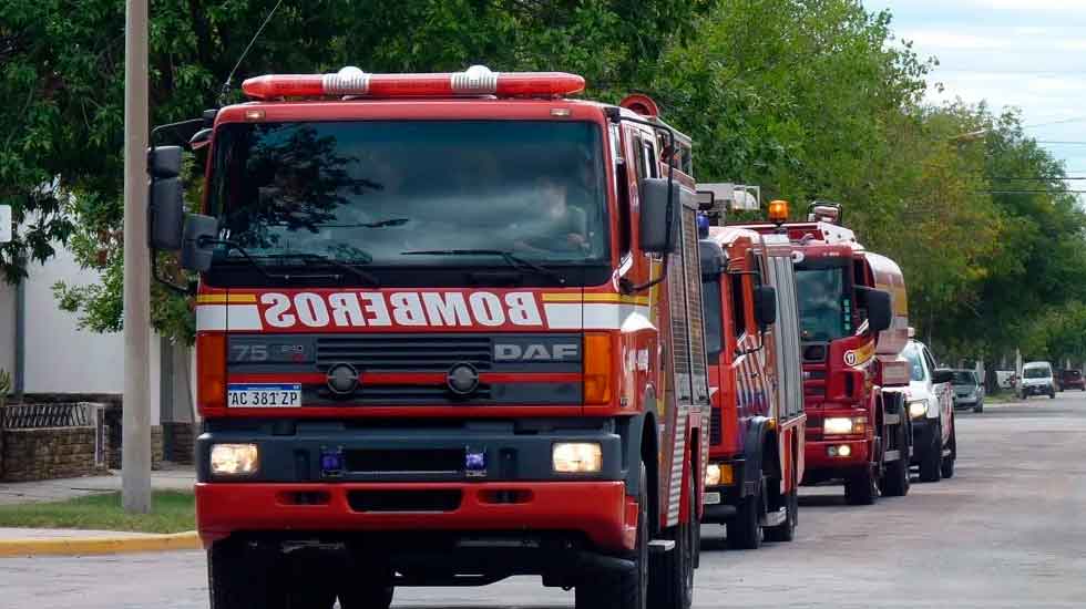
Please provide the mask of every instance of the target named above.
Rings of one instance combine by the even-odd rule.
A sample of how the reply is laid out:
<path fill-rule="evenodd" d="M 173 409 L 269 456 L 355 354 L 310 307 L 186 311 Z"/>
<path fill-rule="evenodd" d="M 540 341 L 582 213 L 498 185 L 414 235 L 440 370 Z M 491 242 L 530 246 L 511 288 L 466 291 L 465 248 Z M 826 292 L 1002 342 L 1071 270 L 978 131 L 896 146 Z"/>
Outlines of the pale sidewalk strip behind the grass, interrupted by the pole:
<path fill-rule="evenodd" d="M 168 468 L 151 472 L 151 487 L 158 491 L 191 491 L 196 482 L 192 468 Z M 62 478 L 39 482 L 0 483 L 0 505 L 63 502 L 98 493 L 121 491 L 121 472 L 110 475 Z"/>

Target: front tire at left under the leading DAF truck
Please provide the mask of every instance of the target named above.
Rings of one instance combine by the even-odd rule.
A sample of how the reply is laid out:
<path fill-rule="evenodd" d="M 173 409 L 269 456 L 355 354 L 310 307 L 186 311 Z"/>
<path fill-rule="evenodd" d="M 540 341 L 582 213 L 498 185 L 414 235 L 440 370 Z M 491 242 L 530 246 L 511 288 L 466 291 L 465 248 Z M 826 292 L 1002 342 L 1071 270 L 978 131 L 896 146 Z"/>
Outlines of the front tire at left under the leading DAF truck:
<path fill-rule="evenodd" d="M 270 550 L 248 547 L 244 539 L 214 543 L 207 550 L 211 609 L 285 609 L 285 595 L 266 576 L 275 562 Z"/>

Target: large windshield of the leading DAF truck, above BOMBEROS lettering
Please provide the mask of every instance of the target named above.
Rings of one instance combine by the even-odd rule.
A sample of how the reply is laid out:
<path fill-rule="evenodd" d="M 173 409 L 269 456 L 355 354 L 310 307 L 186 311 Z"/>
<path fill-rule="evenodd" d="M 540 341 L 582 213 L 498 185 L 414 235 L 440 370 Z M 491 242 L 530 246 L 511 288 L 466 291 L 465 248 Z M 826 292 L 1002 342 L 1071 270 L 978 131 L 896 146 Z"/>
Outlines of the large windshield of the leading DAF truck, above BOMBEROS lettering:
<path fill-rule="evenodd" d="M 227 124 L 211 213 L 255 259 L 319 255 L 381 267 L 608 261 L 600 128 L 587 122 Z M 433 252 L 428 255 L 427 252 Z M 216 266 L 240 262 L 223 247 Z"/>

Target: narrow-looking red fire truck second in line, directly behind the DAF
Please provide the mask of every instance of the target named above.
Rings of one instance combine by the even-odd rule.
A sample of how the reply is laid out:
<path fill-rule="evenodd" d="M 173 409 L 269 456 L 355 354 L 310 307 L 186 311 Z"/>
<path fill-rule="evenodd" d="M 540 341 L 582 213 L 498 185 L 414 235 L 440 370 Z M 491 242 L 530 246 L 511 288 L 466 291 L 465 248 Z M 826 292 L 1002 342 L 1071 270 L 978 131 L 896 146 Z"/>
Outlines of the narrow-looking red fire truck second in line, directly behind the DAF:
<path fill-rule="evenodd" d="M 791 244 L 713 227 L 701 268 L 713 392 L 703 522 L 726 524 L 732 548 L 790 541 L 806 425 Z"/>

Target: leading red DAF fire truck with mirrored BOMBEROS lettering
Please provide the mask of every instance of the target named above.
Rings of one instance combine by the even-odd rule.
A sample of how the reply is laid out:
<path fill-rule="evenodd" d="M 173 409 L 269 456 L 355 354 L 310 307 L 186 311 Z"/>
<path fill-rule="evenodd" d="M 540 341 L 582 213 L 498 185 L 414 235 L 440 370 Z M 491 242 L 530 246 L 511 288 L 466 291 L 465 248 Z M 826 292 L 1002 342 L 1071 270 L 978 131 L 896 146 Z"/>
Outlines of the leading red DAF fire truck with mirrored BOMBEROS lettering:
<path fill-rule="evenodd" d="M 690 141 L 564 73 L 268 75 L 212 113 L 196 296 L 212 607 L 516 575 L 690 606 L 709 390 Z M 662 159 L 667 159 L 662 162 Z"/>

